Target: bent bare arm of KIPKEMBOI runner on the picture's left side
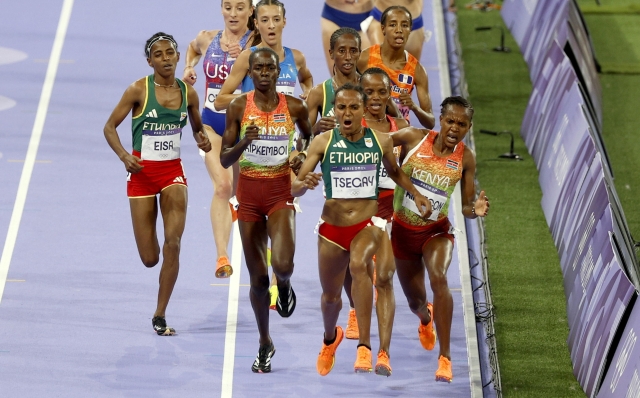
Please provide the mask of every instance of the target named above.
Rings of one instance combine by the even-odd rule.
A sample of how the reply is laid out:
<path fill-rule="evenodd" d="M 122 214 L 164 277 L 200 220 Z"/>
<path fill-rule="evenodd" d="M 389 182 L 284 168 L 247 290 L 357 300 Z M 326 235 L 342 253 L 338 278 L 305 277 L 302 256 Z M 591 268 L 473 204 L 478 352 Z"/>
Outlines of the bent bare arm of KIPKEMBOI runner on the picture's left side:
<path fill-rule="evenodd" d="M 229 109 L 227 109 L 226 126 L 222 135 L 222 146 L 220 147 L 220 164 L 225 169 L 237 162 L 251 141 L 258 138 L 258 127 L 251 125 L 247 127 L 242 140 L 238 141 L 240 124 L 242 123 L 246 106 L 247 95 L 240 94 L 238 98 L 231 101 Z"/>

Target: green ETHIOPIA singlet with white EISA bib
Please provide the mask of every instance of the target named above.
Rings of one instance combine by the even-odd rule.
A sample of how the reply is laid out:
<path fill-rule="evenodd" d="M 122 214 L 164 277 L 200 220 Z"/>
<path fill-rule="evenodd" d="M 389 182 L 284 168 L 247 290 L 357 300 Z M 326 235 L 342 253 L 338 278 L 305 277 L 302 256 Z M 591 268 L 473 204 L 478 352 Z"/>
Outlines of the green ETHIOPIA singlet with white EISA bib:
<path fill-rule="evenodd" d="M 176 79 L 182 93 L 182 105 L 167 109 L 156 99 L 153 75 L 145 81 L 147 92 L 142 112 L 133 117 L 133 149 L 140 152 L 142 160 L 173 160 L 180 158 L 180 137 L 187 124 L 187 87 Z"/>

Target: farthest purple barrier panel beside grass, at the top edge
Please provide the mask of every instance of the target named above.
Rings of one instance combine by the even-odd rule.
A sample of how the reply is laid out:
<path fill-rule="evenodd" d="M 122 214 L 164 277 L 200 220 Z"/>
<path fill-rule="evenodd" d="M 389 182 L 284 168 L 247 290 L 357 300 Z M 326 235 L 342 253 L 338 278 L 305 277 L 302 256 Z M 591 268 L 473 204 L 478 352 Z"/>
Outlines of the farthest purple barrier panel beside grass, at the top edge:
<path fill-rule="evenodd" d="M 529 76 L 535 81 L 540 72 L 544 55 L 555 39 L 558 30 L 568 18 L 569 4 L 566 0 L 541 0 L 531 19 L 531 25 L 520 47 L 529 65 Z"/>

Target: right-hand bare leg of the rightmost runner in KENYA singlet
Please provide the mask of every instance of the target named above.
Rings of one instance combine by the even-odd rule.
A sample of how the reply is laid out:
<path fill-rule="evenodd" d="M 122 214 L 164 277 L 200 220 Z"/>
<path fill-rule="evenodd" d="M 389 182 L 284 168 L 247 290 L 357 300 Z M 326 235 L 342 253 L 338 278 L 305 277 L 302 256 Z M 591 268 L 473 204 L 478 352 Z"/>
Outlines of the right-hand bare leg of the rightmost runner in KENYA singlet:
<path fill-rule="evenodd" d="M 453 317 L 453 298 L 449 290 L 447 271 L 451 264 L 453 242 L 448 238 L 436 236 L 429 240 L 422 250 L 424 263 L 429 273 L 431 290 L 433 290 L 434 321 L 440 340 L 440 355 L 451 359 L 449 341 Z"/>

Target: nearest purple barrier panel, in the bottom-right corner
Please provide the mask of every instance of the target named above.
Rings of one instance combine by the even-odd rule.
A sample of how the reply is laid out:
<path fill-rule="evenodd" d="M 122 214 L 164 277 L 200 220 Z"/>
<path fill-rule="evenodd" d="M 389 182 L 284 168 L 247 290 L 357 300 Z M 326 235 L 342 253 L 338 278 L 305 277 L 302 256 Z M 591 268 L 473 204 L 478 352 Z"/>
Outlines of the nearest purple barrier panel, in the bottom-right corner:
<path fill-rule="evenodd" d="M 637 397 L 640 394 L 640 307 L 633 306 L 604 377 L 598 398 Z"/>

